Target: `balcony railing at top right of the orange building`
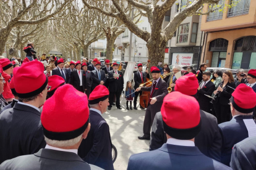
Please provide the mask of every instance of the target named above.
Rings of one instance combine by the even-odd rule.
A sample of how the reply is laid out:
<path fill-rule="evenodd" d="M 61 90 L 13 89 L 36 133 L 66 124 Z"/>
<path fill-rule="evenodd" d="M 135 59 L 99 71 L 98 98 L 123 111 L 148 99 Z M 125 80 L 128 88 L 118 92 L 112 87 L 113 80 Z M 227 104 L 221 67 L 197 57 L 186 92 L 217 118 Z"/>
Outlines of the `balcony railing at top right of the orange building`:
<path fill-rule="evenodd" d="M 250 0 L 241 0 L 236 6 L 231 7 L 228 12 L 228 17 L 236 17 L 249 13 Z"/>

